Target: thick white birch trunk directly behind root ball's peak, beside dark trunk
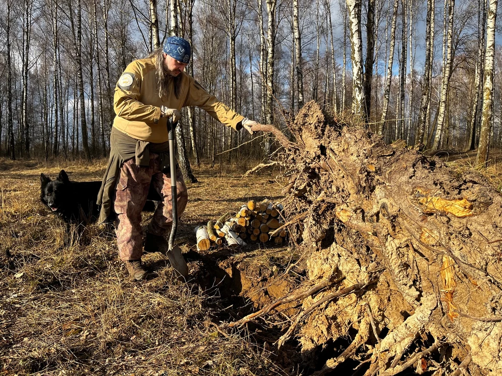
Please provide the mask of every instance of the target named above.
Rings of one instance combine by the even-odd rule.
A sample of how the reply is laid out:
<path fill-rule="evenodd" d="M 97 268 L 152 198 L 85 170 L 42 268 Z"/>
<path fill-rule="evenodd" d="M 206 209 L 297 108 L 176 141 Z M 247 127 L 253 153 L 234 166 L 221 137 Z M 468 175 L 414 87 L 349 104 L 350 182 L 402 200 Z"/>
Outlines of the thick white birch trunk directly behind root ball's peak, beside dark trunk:
<path fill-rule="evenodd" d="M 352 112 L 364 114 L 364 88 L 362 72 L 361 0 L 347 0 L 350 23 L 350 45 L 352 61 Z"/>

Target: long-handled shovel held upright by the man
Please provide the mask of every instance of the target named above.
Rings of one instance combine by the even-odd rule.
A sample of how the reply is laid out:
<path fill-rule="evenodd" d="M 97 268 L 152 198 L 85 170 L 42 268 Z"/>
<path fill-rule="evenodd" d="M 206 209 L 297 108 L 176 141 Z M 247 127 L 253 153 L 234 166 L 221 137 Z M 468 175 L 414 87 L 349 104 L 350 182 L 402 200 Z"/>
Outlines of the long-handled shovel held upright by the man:
<path fill-rule="evenodd" d="M 173 207 L 173 226 L 171 227 L 171 235 L 169 236 L 169 246 L 167 257 L 171 262 L 178 277 L 186 278 L 188 276 L 188 265 L 181 254 L 181 248 L 174 245 L 174 238 L 176 237 L 176 230 L 178 229 L 178 192 L 176 191 L 176 138 L 174 130 L 178 123 L 173 122 L 173 118 L 168 118 L 167 127 L 169 132 L 169 163 L 171 168 L 171 199 Z M 181 279 L 181 278 L 180 278 Z"/>

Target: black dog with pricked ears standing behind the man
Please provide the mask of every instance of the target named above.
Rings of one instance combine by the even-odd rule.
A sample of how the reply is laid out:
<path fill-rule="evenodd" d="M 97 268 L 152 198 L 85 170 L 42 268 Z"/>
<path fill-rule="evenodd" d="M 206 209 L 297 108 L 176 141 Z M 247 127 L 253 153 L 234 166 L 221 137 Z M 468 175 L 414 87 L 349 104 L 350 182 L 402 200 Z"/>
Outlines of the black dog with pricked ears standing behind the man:
<path fill-rule="evenodd" d="M 66 223 L 89 224 L 98 218 L 101 181 L 70 181 L 61 170 L 56 180 L 41 173 L 40 182 L 40 200 Z"/>

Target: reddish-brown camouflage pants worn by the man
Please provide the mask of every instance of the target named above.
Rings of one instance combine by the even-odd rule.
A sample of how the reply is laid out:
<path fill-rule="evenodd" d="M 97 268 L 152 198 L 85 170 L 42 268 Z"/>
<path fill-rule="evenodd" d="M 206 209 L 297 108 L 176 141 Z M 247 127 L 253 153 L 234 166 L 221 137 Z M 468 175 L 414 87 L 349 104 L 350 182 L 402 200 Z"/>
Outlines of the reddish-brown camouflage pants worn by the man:
<path fill-rule="evenodd" d="M 135 158 L 129 159 L 120 168 L 114 211 L 117 215 L 115 232 L 117 235 L 120 260 L 139 260 L 143 255 L 143 233 L 141 229 L 141 211 L 145 206 L 150 183 L 160 194 L 148 232 L 166 236 L 171 231 L 173 222 L 171 202 L 171 174 L 161 171 L 157 154 L 150 154 L 150 165 L 138 166 Z M 185 211 L 188 193 L 179 168 L 176 169 L 176 189 L 178 192 L 178 217 Z"/>

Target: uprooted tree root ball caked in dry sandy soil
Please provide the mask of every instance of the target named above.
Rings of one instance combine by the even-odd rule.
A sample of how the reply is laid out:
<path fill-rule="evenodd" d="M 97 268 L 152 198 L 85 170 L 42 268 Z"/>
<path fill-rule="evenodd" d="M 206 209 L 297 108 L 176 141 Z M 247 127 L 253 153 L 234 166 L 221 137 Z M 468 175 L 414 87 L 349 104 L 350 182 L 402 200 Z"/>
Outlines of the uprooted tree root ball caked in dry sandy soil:
<path fill-rule="evenodd" d="M 299 301 L 279 346 L 349 339 L 315 374 L 347 359 L 365 376 L 502 374 L 502 197 L 487 180 L 327 121 L 314 102 L 290 125 L 294 142 L 259 127 L 282 147 L 286 221 L 308 281 L 230 326 Z"/>

